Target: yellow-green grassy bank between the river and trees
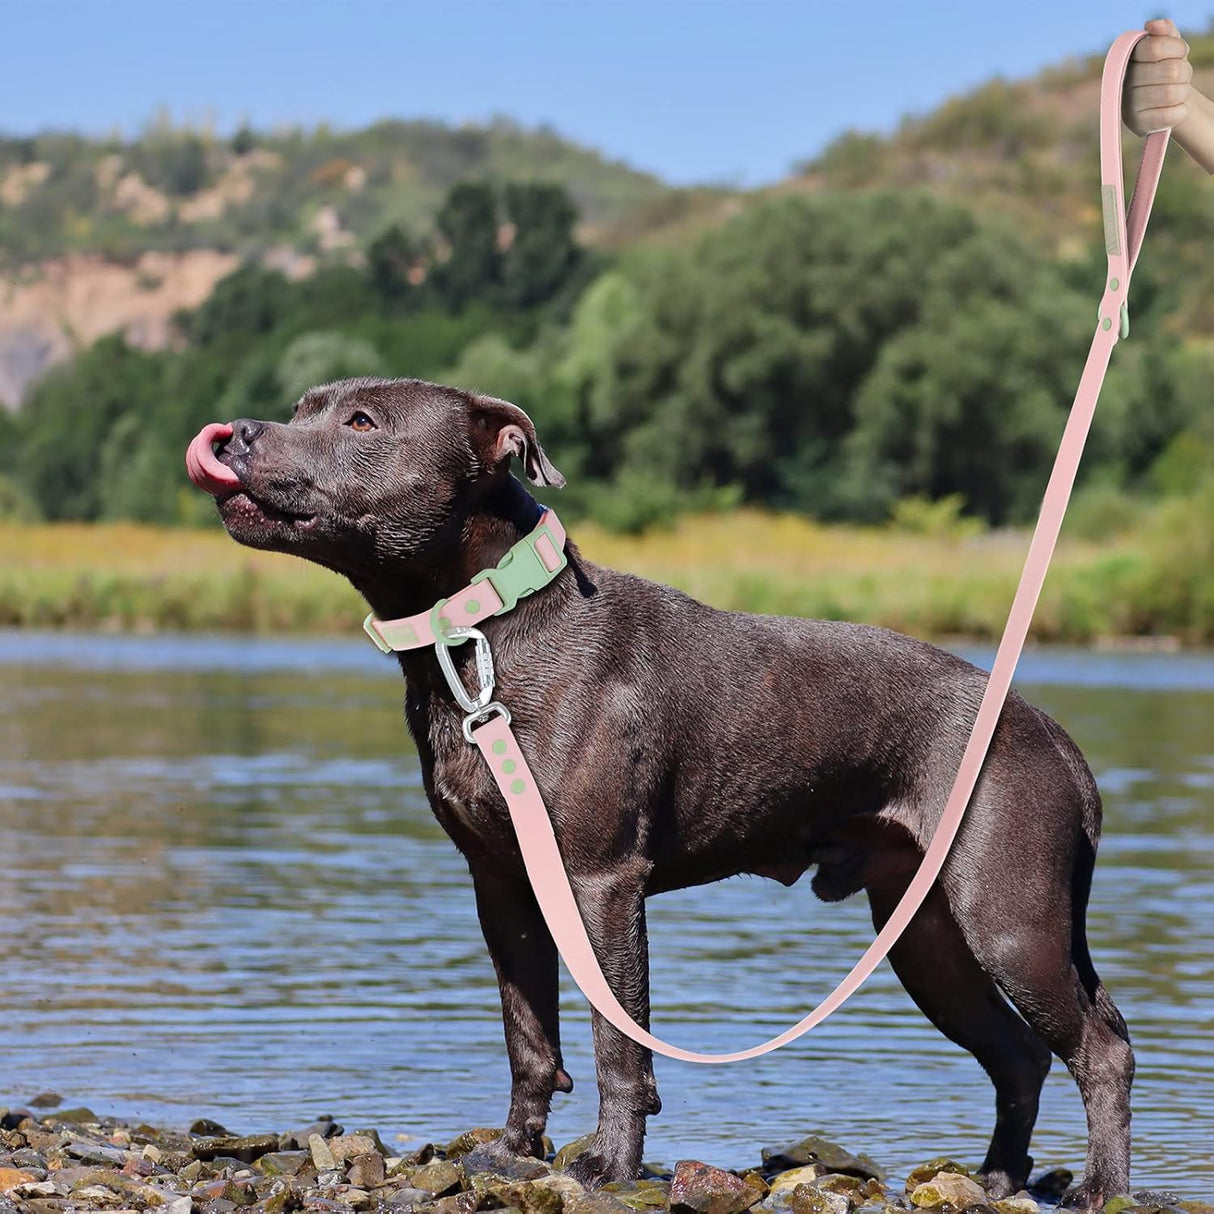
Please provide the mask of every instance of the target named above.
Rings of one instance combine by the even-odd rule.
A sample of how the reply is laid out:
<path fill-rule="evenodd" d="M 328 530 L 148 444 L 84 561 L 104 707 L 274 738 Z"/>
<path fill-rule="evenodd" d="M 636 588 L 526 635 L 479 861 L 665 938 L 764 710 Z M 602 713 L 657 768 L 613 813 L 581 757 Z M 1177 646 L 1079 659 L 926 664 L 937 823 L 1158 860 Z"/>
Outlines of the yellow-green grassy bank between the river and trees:
<path fill-rule="evenodd" d="M 1063 541 L 1036 637 L 1214 641 L 1212 506 L 1163 504 L 1119 539 Z M 720 607 L 982 639 L 1003 628 L 1028 541 L 1021 532 L 932 535 L 747 511 L 639 538 L 588 524 L 573 533 L 592 560 Z M 334 574 L 237 548 L 217 531 L 0 526 L 0 626 L 352 634 L 364 611 Z"/>

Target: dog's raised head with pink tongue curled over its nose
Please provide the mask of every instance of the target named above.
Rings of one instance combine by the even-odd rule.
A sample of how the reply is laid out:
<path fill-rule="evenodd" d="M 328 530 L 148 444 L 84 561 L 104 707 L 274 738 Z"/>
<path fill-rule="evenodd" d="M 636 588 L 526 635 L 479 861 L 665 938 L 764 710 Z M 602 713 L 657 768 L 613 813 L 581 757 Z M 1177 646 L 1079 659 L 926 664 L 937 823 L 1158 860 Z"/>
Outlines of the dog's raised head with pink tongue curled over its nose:
<path fill-rule="evenodd" d="M 233 539 L 353 575 L 425 557 L 515 455 L 535 484 L 565 484 L 517 405 L 424 380 L 352 379 L 306 392 L 288 422 L 205 427 L 186 465 Z"/>

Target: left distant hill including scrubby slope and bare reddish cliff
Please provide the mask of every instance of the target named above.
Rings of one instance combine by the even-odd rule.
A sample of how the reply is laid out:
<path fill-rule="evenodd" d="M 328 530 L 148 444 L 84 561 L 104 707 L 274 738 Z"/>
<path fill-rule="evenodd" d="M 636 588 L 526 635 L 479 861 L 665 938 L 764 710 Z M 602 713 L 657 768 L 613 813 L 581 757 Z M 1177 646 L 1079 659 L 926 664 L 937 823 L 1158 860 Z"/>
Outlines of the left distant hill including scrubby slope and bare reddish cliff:
<path fill-rule="evenodd" d="M 159 348 L 174 312 L 242 260 L 291 278 L 358 261 L 392 223 L 425 232 L 450 186 L 480 177 L 565 186 L 591 244 L 677 216 L 694 194 L 506 120 L 229 140 L 166 123 L 134 141 L 0 137 L 0 404 L 102 334 Z"/>

